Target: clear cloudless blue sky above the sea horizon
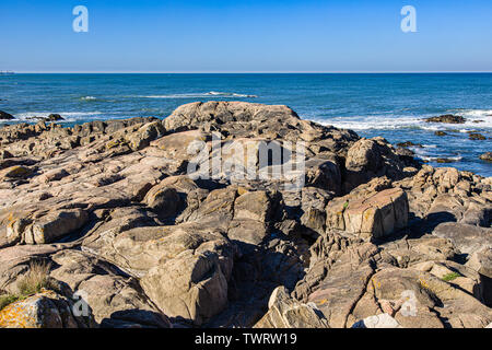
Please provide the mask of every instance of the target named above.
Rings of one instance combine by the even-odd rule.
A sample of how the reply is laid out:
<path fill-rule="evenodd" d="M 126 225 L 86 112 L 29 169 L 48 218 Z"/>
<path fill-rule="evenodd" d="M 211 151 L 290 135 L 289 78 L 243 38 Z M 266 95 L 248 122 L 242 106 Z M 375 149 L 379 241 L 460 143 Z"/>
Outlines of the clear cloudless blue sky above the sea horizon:
<path fill-rule="evenodd" d="M 1 0 L 0 70 L 492 71 L 491 16 L 490 0 Z"/>

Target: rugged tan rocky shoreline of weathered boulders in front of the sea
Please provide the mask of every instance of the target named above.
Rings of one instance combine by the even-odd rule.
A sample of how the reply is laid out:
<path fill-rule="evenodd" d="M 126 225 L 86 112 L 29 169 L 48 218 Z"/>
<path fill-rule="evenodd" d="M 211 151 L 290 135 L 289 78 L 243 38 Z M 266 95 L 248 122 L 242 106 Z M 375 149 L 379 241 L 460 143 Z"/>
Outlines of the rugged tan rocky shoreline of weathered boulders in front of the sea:
<path fill-rule="evenodd" d="M 212 133 L 224 150 L 304 142 L 304 186 L 190 178 L 189 148 L 213 155 Z M 0 296 L 33 264 L 57 287 L 4 305 L 0 327 L 483 328 L 492 178 L 407 151 L 243 102 L 4 126 Z"/>

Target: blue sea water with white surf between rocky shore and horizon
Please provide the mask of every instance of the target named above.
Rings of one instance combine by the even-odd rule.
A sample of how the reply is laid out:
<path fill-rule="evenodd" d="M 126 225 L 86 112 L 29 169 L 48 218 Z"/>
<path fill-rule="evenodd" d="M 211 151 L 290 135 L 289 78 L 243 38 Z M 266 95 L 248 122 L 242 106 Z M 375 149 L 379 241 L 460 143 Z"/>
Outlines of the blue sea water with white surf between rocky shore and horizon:
<path fill-rule="evenodd" d="M 285 104 L 305 119 L 412 141 L 432 165 L 492 176 L 492 73 L 419 74 L 14 74 L 0 75 L 0 110 L 17 120 L 58 113 L 68 125 L 112 118 L 165 118 L 195 101 Z M 465 116 L 465 125 L 427 124 L 430 116 Z M 480 122 L 476 122 L 480 121 Z M 12 122 L 12 121 L 3 121 Z M 437 137 L 434 131 L 448 135 Z M 467 131 L 488 139 L 472 141 Z"/>

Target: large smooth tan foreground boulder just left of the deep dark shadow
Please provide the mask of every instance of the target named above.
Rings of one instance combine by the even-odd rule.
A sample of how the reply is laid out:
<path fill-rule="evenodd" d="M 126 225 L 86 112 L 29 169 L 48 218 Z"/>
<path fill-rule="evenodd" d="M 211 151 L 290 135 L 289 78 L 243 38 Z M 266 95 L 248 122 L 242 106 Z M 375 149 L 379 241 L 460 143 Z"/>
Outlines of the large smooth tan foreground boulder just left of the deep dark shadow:
<path fill-rule="evenodd" d="M 140 277 L 169 317 L 201 325 L 227 305 L 235 246 L 216 229 L 184 223 L 101 230 L 83 247 Z"/>

